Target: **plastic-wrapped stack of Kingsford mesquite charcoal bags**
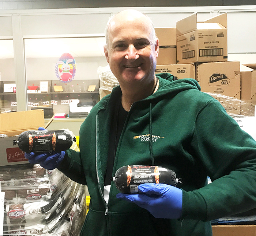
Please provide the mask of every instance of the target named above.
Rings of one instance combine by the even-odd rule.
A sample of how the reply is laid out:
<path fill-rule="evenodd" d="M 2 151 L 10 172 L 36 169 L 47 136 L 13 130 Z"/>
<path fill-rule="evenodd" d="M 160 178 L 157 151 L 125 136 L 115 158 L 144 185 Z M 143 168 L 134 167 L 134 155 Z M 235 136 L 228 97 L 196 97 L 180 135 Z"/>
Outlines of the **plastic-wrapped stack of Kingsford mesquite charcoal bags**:
<path fill-rule="evenodd" d="M 58 169 L 22 164 L 0 167 L 5 192 L 3 235 L 79 235 L 86 189 Z"/>

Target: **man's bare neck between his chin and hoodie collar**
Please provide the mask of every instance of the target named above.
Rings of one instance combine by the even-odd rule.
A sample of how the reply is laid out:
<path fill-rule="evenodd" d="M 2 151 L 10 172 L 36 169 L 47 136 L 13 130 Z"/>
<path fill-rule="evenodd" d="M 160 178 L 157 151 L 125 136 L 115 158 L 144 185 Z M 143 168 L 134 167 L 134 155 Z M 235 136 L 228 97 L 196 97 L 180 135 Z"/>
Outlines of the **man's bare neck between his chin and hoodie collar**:
<path fill-rule="evenodd" d="M 137 102 L 141 99 L 144 99 L 151 94 L 155 93 L 158 89 L 158 79 L 156 76 L 154 76 L 154 83 L 148 84 L 147 86 L 137 86 L 137 87 L 130 87 L 125 89 L 122 89 L 122 106 L 125 111 L 129 111 L 131 109 L 131 106 L 134 102 Z"/>

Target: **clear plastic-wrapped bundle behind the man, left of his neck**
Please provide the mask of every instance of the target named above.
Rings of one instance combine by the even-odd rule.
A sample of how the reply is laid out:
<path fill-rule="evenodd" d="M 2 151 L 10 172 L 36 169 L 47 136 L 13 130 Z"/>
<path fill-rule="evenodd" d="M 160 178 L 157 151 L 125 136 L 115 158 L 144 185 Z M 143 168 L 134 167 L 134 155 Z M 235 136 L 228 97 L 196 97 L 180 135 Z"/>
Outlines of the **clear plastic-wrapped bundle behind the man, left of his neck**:
<path fill-rule="evenodd" d="M 105 67 L 98 67 L 99 79 L 102 82 L 102 86 L 99 88 L 99 99 L 102 99 L 105 95 L 112 92 L 113 87 L 119 85 L 116 77 L 113 75 L 110 70 L 109 65 Z"/>

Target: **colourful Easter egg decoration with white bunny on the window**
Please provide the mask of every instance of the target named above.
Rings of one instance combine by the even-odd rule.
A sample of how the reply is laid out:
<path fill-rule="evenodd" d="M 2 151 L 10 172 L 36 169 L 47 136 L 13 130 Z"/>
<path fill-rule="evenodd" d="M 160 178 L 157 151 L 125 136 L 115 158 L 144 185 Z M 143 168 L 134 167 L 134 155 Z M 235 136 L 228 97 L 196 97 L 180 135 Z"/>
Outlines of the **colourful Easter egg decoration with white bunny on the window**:
<path fill-rule="evenodd" d="M 56 63 L 55 72 L 61 82 L 72 81 L 76 72 L 76 61 L 73 56 L 69 53 L 62 54 Z"/>

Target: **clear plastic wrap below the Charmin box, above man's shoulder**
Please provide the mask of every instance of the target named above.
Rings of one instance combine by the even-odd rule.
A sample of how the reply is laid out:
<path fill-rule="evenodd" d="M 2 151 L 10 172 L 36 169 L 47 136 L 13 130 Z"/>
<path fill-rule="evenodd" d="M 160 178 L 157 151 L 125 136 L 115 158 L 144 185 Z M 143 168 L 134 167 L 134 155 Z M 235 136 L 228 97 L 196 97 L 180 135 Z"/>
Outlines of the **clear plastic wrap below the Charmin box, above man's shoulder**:
<path fill-rule="evenodd" d="M 255 104 L 251 101 L 242 101 L 237 98 L 228 97 L 221 94 L 207 93 L 217 99 L 225 108 L 227 114 L 233 118 L 255 116 Z"/>

